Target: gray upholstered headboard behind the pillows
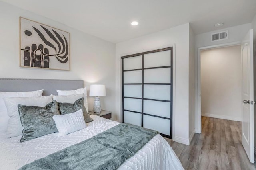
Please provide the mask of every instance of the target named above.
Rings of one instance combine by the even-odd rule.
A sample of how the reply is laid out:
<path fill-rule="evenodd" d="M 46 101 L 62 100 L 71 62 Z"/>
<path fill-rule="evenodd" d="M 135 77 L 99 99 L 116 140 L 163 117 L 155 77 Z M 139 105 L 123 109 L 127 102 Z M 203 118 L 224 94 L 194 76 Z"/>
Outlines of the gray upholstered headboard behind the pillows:
<path fill-rule="evenodd" d="M 44 89 L 44 96 L 57 95 L 56 90 L 84 88 L 83 80 L 12 79 L 0 78 L 1 92 L 26 92 Z"/>

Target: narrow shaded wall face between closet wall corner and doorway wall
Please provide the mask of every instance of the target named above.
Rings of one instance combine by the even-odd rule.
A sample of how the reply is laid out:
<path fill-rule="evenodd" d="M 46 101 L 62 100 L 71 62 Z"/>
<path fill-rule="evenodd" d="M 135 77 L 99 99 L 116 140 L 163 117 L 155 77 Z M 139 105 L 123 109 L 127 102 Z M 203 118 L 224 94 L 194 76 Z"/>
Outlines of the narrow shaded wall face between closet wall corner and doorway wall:
<path fill-rule="evenodd" d="M 195 133 L 195 35 L 189 27 L 189 140 Z"/>

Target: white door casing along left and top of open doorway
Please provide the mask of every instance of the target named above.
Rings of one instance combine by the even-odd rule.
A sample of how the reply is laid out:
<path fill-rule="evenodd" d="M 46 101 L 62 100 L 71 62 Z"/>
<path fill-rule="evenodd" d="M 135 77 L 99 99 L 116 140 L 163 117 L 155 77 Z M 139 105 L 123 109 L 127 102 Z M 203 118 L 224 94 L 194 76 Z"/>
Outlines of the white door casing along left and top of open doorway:
<path fill-rule="evenodd" d="M 240 45 L 240 41 L 232 42 L 232 43 L 225 43 L 225 44 L 218 44 L 218 45 L 210 45 L 206 47 L 199 47 L 197 49 L 197 89 L 196 89 L 196 104 L 197 104 L 197 111 L 195 112 L 195 132 L 202 133 L 201 127 L 201 50 L 205 49 L 214 49 L 219 47 L 228 47 L 233 45 Z"/>

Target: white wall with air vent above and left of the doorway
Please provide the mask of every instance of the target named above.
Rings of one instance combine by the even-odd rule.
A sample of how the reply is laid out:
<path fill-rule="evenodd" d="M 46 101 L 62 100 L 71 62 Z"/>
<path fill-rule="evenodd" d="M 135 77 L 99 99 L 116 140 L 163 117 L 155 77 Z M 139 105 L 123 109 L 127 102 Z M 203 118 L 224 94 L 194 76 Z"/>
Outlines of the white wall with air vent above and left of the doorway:
<path fill-rule="evenodd" d="M 216 30 L 216 31 L 211 31 L 211 32 L 207 32 L 207 33 L 202 33 L 202 34 L 198 34 L 195 36 L 195 86 L 196 86 L 196 100 L 195 100 L 195 115 L 196 115 L 196 119 L 195 119 L 195 129 L 196 132 L 201 131 L 200 130 L 200 124 L 198 123 L 198 94 L 200 94 L 198 92 L 197 87 L 200 86 L 198 84 L 198 68 L 200 68 L 200 66 L 198 66 L 198 48 L 200 47 L 208 47 L 208 46 L 214 46 L 214 45 L 221 45 L 221 44 L 227 44 L 227 43 L 239 43 L 240 41 L 242 41 L 242 39 L 244 38 L 244 36 L 246 35 L 246 33 L 249 31 L 249 29 L 251 29 L 252 24 L 251 23 L 247 23 L 244 25 L 238 25 L 238 26 L 234 26 L 234 27 L 228 27 L 225 29 L 220 29 L 220 30 Z M 228 39 L 222 40 L 222 41 L 211 41 L 211 34 L 215 33 L 215 32 L 219 32 L 219 31 L 224 31 L 224 30 L 228 30 Z M 200 117 L 199 117 L 200 118 Z"/>

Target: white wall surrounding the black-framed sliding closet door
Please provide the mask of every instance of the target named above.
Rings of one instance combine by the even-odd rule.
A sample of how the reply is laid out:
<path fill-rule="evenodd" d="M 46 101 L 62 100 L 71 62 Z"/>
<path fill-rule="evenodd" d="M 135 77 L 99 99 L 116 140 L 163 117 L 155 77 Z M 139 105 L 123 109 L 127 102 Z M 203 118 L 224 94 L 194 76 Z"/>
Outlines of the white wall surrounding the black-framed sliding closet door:
<path fill-rule="evenodd" d="M 116 44 L 116 112 L 122 121 L 121 56 L 174 46 L 173 139 L 189 144 L 189 24 Z"/>

